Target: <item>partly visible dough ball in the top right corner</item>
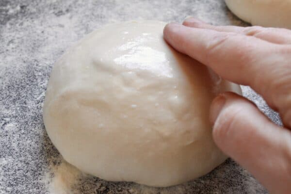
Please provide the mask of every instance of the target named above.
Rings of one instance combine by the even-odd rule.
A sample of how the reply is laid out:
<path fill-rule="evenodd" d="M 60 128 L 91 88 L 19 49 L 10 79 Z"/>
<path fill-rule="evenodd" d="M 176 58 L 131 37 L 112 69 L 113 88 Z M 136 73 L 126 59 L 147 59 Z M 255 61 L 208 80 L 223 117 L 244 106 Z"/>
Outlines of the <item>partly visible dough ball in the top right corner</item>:
<path fill-rule="evenodd" d="M 291 29 L 291 0 L 225 0 L 242 20 L 264 27 Z"/>

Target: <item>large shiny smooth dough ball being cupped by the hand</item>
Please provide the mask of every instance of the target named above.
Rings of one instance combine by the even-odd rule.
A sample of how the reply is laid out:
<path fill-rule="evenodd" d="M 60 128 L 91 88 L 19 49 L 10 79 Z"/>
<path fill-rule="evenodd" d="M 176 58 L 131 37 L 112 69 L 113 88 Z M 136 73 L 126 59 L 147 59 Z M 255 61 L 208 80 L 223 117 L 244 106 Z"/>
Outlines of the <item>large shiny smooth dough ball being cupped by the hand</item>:
<path fill-rule="evenodd" d="M 54 65 L 43 108 L 52 143 L 82 171 L 170 186 L 226 160 L 209 108 L 240 86 L 172 49 L 165 23 L 130 21 L 90 33 Z"/>

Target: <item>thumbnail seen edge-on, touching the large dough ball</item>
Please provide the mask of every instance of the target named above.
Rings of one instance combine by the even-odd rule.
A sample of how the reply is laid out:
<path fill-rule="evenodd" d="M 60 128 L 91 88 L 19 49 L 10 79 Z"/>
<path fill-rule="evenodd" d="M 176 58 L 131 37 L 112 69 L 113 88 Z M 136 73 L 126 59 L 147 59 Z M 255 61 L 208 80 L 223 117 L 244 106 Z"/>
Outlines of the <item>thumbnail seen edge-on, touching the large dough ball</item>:
<path fill-rule="evenodd" d="M 210 122 L 212 125 L 215 123 L 225 103 L 226 103 L 226 97 L 224 95 L 219 95 L 213 100 L 210 106 Z"/>

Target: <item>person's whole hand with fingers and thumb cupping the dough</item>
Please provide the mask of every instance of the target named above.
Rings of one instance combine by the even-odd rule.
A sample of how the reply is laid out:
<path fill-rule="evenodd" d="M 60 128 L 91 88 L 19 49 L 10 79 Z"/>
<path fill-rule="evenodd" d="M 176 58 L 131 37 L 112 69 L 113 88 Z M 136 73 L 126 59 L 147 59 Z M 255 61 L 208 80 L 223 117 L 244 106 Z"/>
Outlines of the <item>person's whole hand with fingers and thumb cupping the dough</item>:
<path fill-rule="evenodd" d="M 234 93 L 210 107 L 213 139 L 271 194 L 291 191 L 291 31 L 262 27 L 212 26 L 193 17 L 170 23 L 164 39 L 209 66 L 222 78 L 249 85 L 280 113 L 272 123 L 250 100 Z"/>

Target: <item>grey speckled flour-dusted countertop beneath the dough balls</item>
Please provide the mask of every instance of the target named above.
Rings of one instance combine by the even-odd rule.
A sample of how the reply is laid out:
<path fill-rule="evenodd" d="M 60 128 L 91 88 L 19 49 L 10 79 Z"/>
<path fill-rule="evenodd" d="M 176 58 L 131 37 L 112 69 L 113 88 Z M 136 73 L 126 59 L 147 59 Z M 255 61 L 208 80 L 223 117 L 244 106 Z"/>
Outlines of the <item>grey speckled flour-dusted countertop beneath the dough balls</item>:
<path fill-rule="evenodd" d="M 107 23 L 181 22 L 188 15 L 216 25 L 247 25 L 223 0 L 0 0 L 0 194 L 266 194 L 230 159 L 202 178 L 170 188 L 107 182 L 63 162 L 48 138 L 42 120 L 46 85 L 65 49 Z M 279 123 L 249 87 L 243 94 Z M 64 180 L 61 186 L 56 179 Z"/>

